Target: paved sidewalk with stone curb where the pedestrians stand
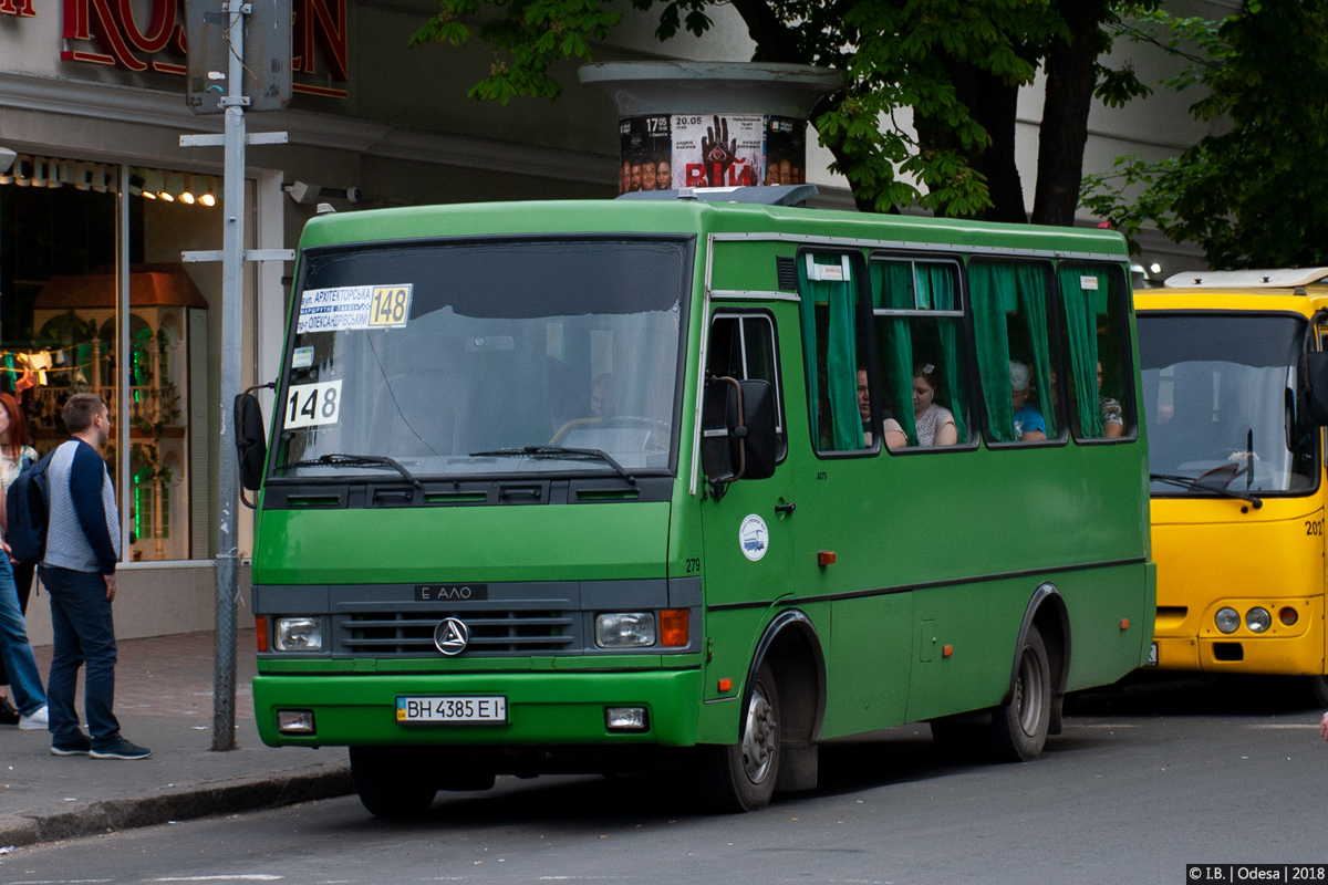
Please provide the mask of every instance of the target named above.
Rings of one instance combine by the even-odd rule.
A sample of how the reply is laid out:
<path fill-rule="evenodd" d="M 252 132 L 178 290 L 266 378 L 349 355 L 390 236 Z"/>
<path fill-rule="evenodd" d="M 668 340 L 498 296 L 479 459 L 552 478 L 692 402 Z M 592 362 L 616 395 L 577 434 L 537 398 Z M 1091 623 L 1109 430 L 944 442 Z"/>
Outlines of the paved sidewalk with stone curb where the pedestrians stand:
<path fill-rule="evenodd" d="M 50 646 L 36 653 L 45 682 Z M 238 750 L 230 752 L 210 750 L 210 632 L 120 641 L 116 715 L 151 759 L 52 756 L 48 732 L 0 726 L 0 848 L 352 792 L 344 747 L 263 746 L 254 726 L 252 630 L 240 632 L 235 657 Z"/>

